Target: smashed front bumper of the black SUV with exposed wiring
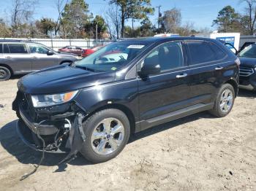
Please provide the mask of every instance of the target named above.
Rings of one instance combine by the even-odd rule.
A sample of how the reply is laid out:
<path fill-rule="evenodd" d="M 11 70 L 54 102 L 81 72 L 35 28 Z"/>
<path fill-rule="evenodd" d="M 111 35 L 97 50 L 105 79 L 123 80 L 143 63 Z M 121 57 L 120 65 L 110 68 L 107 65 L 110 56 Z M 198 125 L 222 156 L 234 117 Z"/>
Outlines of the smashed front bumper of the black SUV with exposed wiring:
<path fill-rule="evenodd" d="M 30 96 L 18 92 L 12 109 L 19 117 L 20 139 L 34 150 L 76 155 L 86 139 L 82 128 L 86 114 L 75 103 L 34 109 Z"/>

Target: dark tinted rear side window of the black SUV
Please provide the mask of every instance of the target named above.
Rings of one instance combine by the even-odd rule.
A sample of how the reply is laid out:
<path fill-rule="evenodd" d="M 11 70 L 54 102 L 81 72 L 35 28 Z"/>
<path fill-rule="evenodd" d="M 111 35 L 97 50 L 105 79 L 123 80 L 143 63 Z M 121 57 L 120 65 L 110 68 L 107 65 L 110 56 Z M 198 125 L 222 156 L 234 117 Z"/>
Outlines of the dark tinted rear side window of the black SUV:
<path fill-rule="evenodd" d="M 210 42 L 187 42 L 187 45 L 190 52 L 190 65 L 219 61 L 226 55 L 216 44 Z"/>

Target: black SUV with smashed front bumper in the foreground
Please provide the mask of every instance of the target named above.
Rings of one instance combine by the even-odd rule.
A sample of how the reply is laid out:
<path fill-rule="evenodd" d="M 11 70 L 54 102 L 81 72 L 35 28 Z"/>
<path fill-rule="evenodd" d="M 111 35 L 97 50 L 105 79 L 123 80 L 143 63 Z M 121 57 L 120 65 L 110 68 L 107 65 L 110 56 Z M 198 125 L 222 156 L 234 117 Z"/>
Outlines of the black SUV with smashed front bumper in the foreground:
<path fill-rule="evenodd" d="M 238 94 L 238 63 L 214 39 L 115 42 L 21 78 L 13 102 L 18 133 L 34 149 L 104 162 L 130 133 L 206 110 L 225 117 Z"/>

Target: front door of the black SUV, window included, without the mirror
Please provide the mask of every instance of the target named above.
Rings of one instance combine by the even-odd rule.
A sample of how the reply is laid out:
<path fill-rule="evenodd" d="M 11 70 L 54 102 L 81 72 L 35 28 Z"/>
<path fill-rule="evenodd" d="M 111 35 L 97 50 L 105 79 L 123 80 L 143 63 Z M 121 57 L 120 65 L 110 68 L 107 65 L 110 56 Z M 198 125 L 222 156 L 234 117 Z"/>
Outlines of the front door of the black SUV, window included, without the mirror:
<path fill-rule="evenodd" d="M 162 44 L 152 50 L 141 63 L 157 62 L 161 67 L 160 74 L 138 79 L 141 121 L 189 106 L 189 67 L 182 44 Z M 144 125 L 142 128 L 147 127 Z"/>

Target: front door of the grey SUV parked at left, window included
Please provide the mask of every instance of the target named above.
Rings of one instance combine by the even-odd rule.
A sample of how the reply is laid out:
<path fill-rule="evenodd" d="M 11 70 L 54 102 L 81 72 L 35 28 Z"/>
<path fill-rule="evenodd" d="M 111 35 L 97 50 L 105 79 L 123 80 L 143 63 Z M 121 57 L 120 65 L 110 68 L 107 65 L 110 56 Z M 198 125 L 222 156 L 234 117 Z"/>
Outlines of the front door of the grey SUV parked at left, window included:
<path fill-rule="evenodd" d="M 48 55 L 48 48 L 41 44 L 29 44 L 29 50 L 32 61 L 32 70 L 48 68 L 59 64 L 59 59 L 56 54 Z"/>

